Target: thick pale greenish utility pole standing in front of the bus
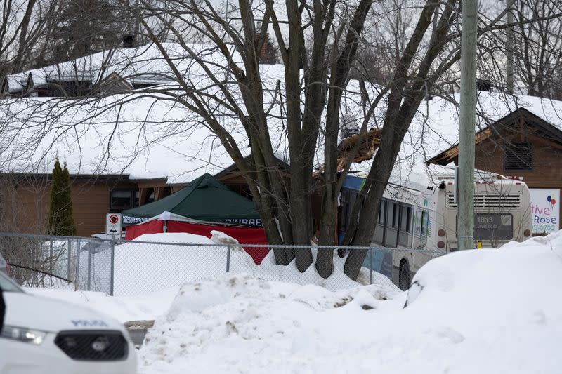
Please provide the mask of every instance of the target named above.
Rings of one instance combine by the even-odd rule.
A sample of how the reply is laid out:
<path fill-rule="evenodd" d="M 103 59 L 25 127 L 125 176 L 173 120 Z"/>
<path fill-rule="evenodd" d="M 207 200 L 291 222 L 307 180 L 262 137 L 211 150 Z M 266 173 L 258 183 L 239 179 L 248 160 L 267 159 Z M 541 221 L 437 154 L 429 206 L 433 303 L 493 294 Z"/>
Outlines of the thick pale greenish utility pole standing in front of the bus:
<path fill-rule="evenodd" d="M 474 248 L 474 135 L 476 126 L 476 34 L 478 0 L 462 4 L 459 211 L 457 247 Z"/>

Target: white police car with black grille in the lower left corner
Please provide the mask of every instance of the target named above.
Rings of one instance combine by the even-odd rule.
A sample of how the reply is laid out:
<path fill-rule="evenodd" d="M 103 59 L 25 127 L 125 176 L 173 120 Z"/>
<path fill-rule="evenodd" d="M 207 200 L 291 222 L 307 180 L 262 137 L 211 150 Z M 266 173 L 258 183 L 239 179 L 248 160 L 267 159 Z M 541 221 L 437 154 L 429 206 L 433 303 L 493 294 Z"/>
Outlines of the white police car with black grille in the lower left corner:
<path fill-rule="evenodd" d="M 6 302 L 0 374 L 137 372 L 123 325 L 91 309 L 25 293 L 0 273 Z"/>

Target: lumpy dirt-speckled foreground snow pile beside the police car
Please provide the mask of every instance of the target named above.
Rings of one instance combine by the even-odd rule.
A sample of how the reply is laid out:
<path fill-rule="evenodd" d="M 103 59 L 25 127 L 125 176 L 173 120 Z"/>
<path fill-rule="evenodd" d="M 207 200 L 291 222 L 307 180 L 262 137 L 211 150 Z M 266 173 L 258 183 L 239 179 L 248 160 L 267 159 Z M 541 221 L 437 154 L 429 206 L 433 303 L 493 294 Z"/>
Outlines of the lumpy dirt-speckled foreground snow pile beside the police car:
<path fill-rule="evenodd" d="M 342 365 L 329 356 L 357 339 L 334 344 L 343 333 L 338 312 L 372 315 L 362 305 L 377 308 L 393 295 L 377 286 L 333 293 L 249 276 L 186 284 L 145 338 L 141 373 L 312 373 L 316 364 L 319 373 L 336 373 Z M 355 297 L 361 301 L 350 302 Z"/>

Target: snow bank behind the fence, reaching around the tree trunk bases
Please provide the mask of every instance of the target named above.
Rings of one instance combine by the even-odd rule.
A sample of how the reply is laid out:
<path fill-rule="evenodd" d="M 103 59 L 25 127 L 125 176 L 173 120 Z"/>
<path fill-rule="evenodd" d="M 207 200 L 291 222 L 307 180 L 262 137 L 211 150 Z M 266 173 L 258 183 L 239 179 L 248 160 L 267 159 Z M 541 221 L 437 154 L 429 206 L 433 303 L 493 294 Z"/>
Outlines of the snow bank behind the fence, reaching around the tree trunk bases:
<path fill-rule="evenodd" d="M 214 232 L 214 238 L 218 241 L 228 241 L 230 236 L 223 232 Z M 186 282 L 217 279 L 227 272 L 227 251 L 228 247 L 224 243 L 216 243 L 205 236 L 195 234 L 141 235 L 135 241 L 115 246 L 114 295 L 140 295 L 180 286 Z M 110 256 L 109 249 L 96 253 L 91 265 L 94 269 L 92 284 L 97 287 L 103 283 L 107 290 L 109 286 L 105 283 L 109 281 Z M 315 259 L 316 251 L 313 250 L 313 264 Z M 360 286 L 360 283 L 352 281 L 344 274 L 345 260 L 339 258 L 334 251 L 334 272 L 324 279 L 314 265 L 303 273 L 296 268 L 296 260 L 287 266 L 276 265 L 273 251 L 268 253 L 261 265 L 256 265 L 242 248 L 233 247 L 230 250 L 228 271 L 231 274 L 250 274 L 256 279 L 268 281 L 315 284 L 329 290 Z M 84 274 L 81 274 L 81 278 L 84 278 Z M 373 274 L 374 283 L 394 287 L 386 276 L 376 272 Z M 367 269 L 362 269 L 359 279 L 362 283 L 368 283 Z"/>

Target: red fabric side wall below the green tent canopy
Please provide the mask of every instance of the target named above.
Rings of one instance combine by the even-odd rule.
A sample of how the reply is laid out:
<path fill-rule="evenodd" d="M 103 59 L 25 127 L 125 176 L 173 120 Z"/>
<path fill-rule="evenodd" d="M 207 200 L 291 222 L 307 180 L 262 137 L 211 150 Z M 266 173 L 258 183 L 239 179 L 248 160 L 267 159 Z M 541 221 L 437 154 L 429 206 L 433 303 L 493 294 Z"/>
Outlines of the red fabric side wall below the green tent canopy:
<path fill-rule="evenodd" d="M 235 226 L 215 226 L 215 225 L 200 225 L 197 223 L 167 221 L 167 232 L 188 232 L 190 234 L 211 237 L 211 231 L 221 231 L 232 236 L 242 244 L 267 244 L 266 233 L 263 232 L 261 227 L 235 227 Z M 126 227 L 125 239 L 133 240 L 142 234 L 157 234 L 164 232 L 164 221 L 153 220 L 145 222 L 141 225 L 131 225 Z M 263 258 L 269 252 L 265 247 L 244 247 L 256 265 L 260 265 Z"/>

